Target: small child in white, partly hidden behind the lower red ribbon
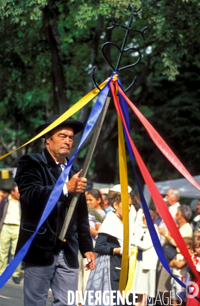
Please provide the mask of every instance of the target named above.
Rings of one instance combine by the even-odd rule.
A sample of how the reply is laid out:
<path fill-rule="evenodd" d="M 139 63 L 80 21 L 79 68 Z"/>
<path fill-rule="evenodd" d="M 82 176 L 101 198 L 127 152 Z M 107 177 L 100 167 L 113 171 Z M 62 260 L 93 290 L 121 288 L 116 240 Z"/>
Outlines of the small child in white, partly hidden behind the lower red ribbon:
<path fill-rule="evenodd" d="M 188 250 L 191 248 L 192 244 L 192 238 L 190 237 L 184 237 L 186 246 Z M 172 273 L 177 276 L 182 282 L 185 281 L 185 277 L 187 274 L 187 263 L 181 253 L 177 253 L 176 256 L 173 258 L 172 261 L 169 263 L 169 267 L 171 267 Z M 179 295 L 182 291 L 181 285 L 175 281 L 175 279 L 172 277 L 170 284 L 172 285 L 172 291 L 175 291 L 175 294 L 172 295 L 173 304 L 175 306 L 180 305 L 181 299 L 179 298 Z M 178 292 L 178 296 L 176 292 Z"/>

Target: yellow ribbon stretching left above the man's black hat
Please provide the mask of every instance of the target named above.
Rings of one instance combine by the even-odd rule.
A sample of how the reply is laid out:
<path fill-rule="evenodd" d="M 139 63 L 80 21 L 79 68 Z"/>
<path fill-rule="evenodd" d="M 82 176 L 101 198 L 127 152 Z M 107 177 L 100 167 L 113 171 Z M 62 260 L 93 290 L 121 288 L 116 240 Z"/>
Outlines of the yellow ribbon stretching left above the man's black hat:
<path fill-rule="evenodd" d="M 102 89 L 106 85 L 107 81 L 108 81 L 108 79 L 105 80 L 101 85 L 99 85 L 99 87 Z M 54 129 L 54 127 L 61 124 L 63 121 L 65 121 L 66 119 L 71 117 L 73 114 L 75 114 L 77 111 L 79 111 L 83 106 L 85 106 L 87 103 L 89 103 L 98 93 L 99 93 L 99 90 L 97 88 L 93 89 L 91 92 L 89 92 L 83 98 L 81 98 L 76 104 L 74 104 L 68 111 L 66 111 L 63 115 L 61 115 L 58 119 L 56 119 L 48 127 L 46 127 L 46 129 L 44 129 L 42 132 L 40 132 L 37 136 L 35 136 L 31 140 L 29 140 L 28 142 L 24 143 L 20 147 L 18 147 L 16 149 L 12 150 L 11 152 L 1 156 L 0 160 L 5 158 L 6 156 L 10 155 L 11 153 L 15 152 L 16 150 L 22 148 L 26 144 L 38 139 L 42 135 L 48 133 L 50 130 Z"/>

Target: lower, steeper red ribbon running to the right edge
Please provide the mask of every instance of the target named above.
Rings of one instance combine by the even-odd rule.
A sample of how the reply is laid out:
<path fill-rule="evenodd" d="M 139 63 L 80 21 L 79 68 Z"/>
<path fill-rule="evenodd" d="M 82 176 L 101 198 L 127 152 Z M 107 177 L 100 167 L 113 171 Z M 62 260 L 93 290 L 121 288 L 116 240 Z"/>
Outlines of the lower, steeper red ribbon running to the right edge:
<path fill-rule="evenodd" d="M 132 150 L 134 152 L 134 155 L 135 155 L 135 158 L 137 160 L 138 166 L 139 166 L 139 168 L 141 170 L 142 175 L 144 176 L 144 179 L 145 179 L 146 184 L 147 184 L 147 186 L 148 186 L 148 188 L 150 190 L 150 193 L 151 193 L 151 195 L 153 197 L 155 205 L 158 208 L 158 210 L 160 212 L 160 215 L 161 215 L 162 219 L 164 220 L 167 228 L 169 229 L 169 228 L 172 228 L 172 226 L 173 226 L 172 233 L 173 234 L 174 234 L 174 232 L 176 233 L 175 234 L 176 237 L 173 235 L 173 238 L 175 239 L 175 242 L 177 243 L 177 246 L 179 247 L 179 249 L 180 249 L 181 253 L 183 254 L 183 256 L 185 257 L 186 261 L 190 265 L 192 271 L 194 272 L 194 274 L 196 276 L 198 276 L 198 273 L 196 272 L 196 269 L 195 269 L 195 267 L 194 267 L 194 265 L 193 265 L 193 263 L 191 261 L 191 257 L 189 255 L 189 252 L 188 252 L 188 250 L 186 248 L 185 241 L 183 240 L 182 236 L 180 235 L 180 232 L 178 230 L 178 227 L 177 227 L 176 223 L 174 222 L 174 219 L 170 215 L 170 213 L 168 211 L 168 208 L 166 207 L 165 203 L 163 202 L 162 197 L 161 197 L 159 191 L 157 190 L 157 187 L 156 187 L 155 183 L 153 182 L 153 179 L 152 179 L 150 173 L 148 172 L 145 164 L 142 162 L 142 160 L 141 160 L 141 158 L 140 158 L 140 156 L 139 156 L 139 154 L 137 152 L 137 149 L 135 148 L 135 146 L 133 144 L 133 141 L 132 141 L 132 139 L 130 137 L 128 128 L 126 126 L 126 122 L 124 120 L 124 116 L 123 116 L 122 111 L 120 109 L 120 106 L 119 106 L 119 103 L 118 103 L 118 99 L 117 99 L 117 97 L 115 97 L 116 93 L 115 93 L 115 89 L 113 88 L 113 84 L 112 83 L 110 83 L 110 87 L 111 87 L 111 91 L 112 91 L 112 94 L 113 94 L 113 97 L 114 97 L 114 101 L 115 101 L 115 105 L 116 105 L 117 111 L 118 111 L 119 115 L 121 116 L 121 119 L 122 119 L 123 124 L 125 126 L 127 140 L 130 142 L 130 145 L 131 145 L 131 148 L 132 148 Z M 128 143 L 128 141 L 127 141 L 127 143 Z M 145 169 L 145 171 L 144 171 L 144 169 Z M 138 178 L 137 178 L 137 182 L 139 183 Z M 141 187 L 139 188 L 139 190 L 142 193 Z M 144 196 L 143 196 L 143 198 L 144 198 Z M 144 200 L 145 200 L 145 198 L 144 198 Z M 145 203 L 146 203 L 146 201 L 145 201 Z M 147 207 L 147 210 L 149 212 L 148 207 Z M 151 219 L 151 216 L 150 216 L 150 219 Z M 155 230 L 155 228 L 154 228 L 154 230 Z M 152 231 L 153 231 L 153 229 L 152 229 Z M 157 240 L 157 244 L 158 244 L 158 242 L 159 242 L 159 239 Z M 160 242 L 159 242 L 159 244 L 160 244 Z M 161 250 L 162 250 L 162 247 L 160 248 L 159 252 L 161 252 Z M 168 269 L 167 269 L 167 271 L 168 271 Z"/>

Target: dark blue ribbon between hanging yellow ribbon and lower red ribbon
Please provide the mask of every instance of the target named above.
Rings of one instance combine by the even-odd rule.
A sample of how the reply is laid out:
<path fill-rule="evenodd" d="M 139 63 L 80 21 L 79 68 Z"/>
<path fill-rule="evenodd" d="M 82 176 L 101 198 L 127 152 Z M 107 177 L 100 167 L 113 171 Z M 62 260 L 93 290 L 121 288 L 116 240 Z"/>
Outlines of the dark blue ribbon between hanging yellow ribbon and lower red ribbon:
<path fill-rule="evenodd" d="M 115 99 L 117 101 L 117 98 Z M 121 100 L 121 99 L 120 99 Z M 122 99 L 123 100 L 123 99 Z M 130 129 L 127 128 L 127 126 L 129 127 L 129 117 L 127 117 L 127 114 L 126 111 L 124 112 L 124 110 L 127 109 L 127 104 L 126 104 L 126 101 L 120 101 L 121 105 L 122 105 L 122 109 L 118 108 L 118 105 L 116 105 L 116 108 L 118 110 L 119 113 L 121 113 L 121 117 L 123 118 L 123 122 L 125 122 L 126 125 L 123 124 L 124 126 L 124 133 L 125 133 L 125 136 L 126 136 L 126 141 L 127 141 L 127 145 L 128 145 L 128 149 L 129 149 L 129 153 L 130 153 L 130 156 L 131 156 L 131 160 L 132 160 L 132 164 L 133 164 L 133 169 L 134 169 L 134 172 L 135 172 L 135 177 L 136 177 L 136 182 L 137 182 L 137 186 L 138 186 L 138 191 L 139 191 L 139 195 L 140 195 L 140 200 L 141 200 L 141 204 L 142 204 L 142 208 L 144 209 L 144 213 L 145 213 L 145 217 L 146 217 L 146 220 L 147 220 L 147 225 L 148 225 L 148 228 L 149 228 L 149 231 L 150 231 L 150 236 L 151 236 L 151 239 L 152 239 L 152 242 L 153 242 L 153 245 L 154 245 L 154 248 L 156 250 L 156 253 L 157 253 L 157 256 L 161 262 L 161 264 L 163 265 L 163 267 L 165 268 L 165 270 L 184 288 L 187 289 L 187 291 L 190 293 L 189 291 L 189 288 L 186 287 L 186 285 L 180 281 L 180 279 L 176 276 L 174 276 L 172 274 L 172 271 L 170 270 L 169 268 L 169 265 L 167 263 L 167 260 L 166 260 L 166 257 L 165 257 L 165 254 L 163 252 L 163 249 L 162 249 L 162 246 L 161 246 L 161 243 L 160 243 L 160 240 L 158 238 L 158 234 L 155 230 L 155 226 L 154 226 L 154 223 L 152 221 L 152 218 L 151 218 L 151 215 L 150 215 L 150 212 L 149 212 L 149 208 L 148 208 L 148 205 L 147 205 L 147 202 L 145 200 L 145 197 L 144 197 L 144 194 L 142 192 L 142 188 L 141 188 L 141 185 L 139 183 L 139 179 L 138 179 L 138 176 L 137 176 L 137 173 L 136 173 L 136 170 L 135 170 L 135 166 L 134 166 L 134 161 L 133 161 L 133 155 L 132 155 L 132 150 L 131 150 L 131 144 L 130 144 L 130 141 L 129 141 L 129 138 L 130 138 L 130 133 L 129 133 L 129 136 L 127 134 L 127 131 L 130 132 Z M 192 293 L 190 293 L 192 295 Z M 195 297 L 195 296 L 194 296 Z M 200 302 L 200 299 L 198 297 L 195 297 L 195 299 Z"/>

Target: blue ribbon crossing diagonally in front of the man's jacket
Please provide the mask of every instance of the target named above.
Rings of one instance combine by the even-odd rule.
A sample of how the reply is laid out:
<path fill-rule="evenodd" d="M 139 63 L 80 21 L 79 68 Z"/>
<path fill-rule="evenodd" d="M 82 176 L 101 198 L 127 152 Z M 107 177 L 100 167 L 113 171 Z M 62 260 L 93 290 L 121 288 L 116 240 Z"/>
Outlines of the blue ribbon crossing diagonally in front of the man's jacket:
<path fill-rule="evenodd" d="M 5 271 L 2 273 L 2 275 L 0 276 L 0 289 L 6 284 L 6 282 L 8 281 L 8 279 L 12 276 L 13 272 L 16 270 L 16 268 L 18 267 L 18 265 L 20 264 L 20 262 L 23 260 L 25 254 L 27 253 L 28 248 L 30 247 L 34 237 L 36 236 L 36 234 L 39 231 L 40 226 L 42 225 L 42 223 L 46 220 L 46 218 L 48 217 L 48 215 L 50 214 L 50 212 L 52 211 L 52 209 L 54 208 L 54 206 L 56 205 L 56 203 L 59 200 L 59 197 L 62 193 L 63 190 L 63 186 L 65 184 L 66 178 L 69 175 L 72 163 L 81 147 L 81 145 L 83 144 L 83 142 L 85 141 L 85 139 L 88 137 L 88 135 L 90 134 L 90 132 L 92 131 L 97 119 L 99 118 L 99 115 L 105 105 L 105 101 L 108 95 L 108 92 L 110 90 L 110 81 L 112 80 L 112 77 L 109 79 L 109 81 L 107 82 L 107 84 L 105 85 L 105 87 L 100 91 L 98 99 L 92 109 L 92 112 L 90 114 L 90 117 L 87 121 L 87 124 L 85 125 L 80 143 L 78 145 L 78 148 L 76 150 L 76 152 L 74 153 L 74 155 L 72 156 L 72 158 L 70 159 L 70 161 L 68 162 L 67 166 L 65 167 L 64 171 L 60 174 L 58 181 L 56 182 L 50 196 L 49 199 L 47 201 L 46 207 L 43 211 L 42 217 L 38 223 L 36 232 L 30 237 L 30 239 L 28 239 L 28 241 L 24 244 L 24 246 L 20 249 L 20 251 L 16 254 L 16 256 L 14 257 L 14 259 L 11 261 L 11 263 L 8 265 L 8 267 L 5 269 Z"/>

